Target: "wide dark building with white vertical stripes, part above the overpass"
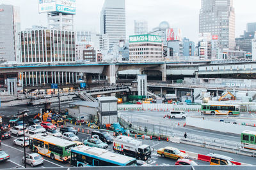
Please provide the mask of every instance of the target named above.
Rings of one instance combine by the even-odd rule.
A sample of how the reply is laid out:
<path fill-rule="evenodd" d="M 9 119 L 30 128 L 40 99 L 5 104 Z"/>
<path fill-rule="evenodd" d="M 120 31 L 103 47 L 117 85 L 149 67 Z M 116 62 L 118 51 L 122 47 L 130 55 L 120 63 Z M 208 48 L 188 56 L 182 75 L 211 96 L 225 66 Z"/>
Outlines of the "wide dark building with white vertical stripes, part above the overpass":
<path fill-rule="evenodd" d="M 76 61 L 74 31 L 28 29 L 19 34 L 21 62 Z"/>

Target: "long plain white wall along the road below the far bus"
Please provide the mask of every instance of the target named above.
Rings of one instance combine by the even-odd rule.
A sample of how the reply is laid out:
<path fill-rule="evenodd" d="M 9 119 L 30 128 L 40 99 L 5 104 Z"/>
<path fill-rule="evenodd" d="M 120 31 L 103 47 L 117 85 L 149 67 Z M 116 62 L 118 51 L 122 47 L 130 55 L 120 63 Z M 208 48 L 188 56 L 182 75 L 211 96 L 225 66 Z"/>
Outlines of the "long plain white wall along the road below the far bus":
<path fill-rule="evenodd" d="M 227 124 L 223 122 L 215 122 L 211 120 L 203 120 L 202 118 L 187 117 L 186 125 L 198 127 L 202 129 L 209 129 L 212 131 L 226 132 L 232 134 L 241 134 L 245 130 L 256 131 L 256 127 L 250 127 L 245 125 Z"/>

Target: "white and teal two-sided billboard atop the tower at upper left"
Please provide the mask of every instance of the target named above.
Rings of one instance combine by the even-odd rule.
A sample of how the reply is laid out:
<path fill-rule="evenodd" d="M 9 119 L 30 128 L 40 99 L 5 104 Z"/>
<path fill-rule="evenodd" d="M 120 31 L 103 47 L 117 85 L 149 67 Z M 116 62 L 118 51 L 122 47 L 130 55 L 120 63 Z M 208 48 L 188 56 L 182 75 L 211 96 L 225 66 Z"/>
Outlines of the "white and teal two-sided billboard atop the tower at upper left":
<path fill-rule="evenodd" d="M 76 14 L 76 0 L 39 0 L 39 13 L 60 12 Z"/>

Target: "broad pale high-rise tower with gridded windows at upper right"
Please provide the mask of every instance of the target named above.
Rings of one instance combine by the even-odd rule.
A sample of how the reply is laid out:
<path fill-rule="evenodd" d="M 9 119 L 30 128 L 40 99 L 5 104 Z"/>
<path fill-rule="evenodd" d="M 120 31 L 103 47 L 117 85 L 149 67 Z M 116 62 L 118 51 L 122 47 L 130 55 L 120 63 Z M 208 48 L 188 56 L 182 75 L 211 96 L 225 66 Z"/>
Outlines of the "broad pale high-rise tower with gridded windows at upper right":
<path fill-rule="evenodd" d="M 221 49 L 234 49 L 236 43 L 233 0 L 202 0 L 199 32 L 218 36 Z"/>

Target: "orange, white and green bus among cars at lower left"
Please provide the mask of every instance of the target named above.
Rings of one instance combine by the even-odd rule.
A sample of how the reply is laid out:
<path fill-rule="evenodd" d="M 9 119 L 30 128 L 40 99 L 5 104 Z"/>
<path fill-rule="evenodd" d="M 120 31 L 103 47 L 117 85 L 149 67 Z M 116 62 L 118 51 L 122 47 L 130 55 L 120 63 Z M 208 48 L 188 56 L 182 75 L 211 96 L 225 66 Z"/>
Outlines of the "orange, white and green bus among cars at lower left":
<path fill-rule="evenodd" d="M 47 134 L 36 134 L 29 138 L 30 150 L 61 162 L 70 159 L 70 150 L 76 146 L 76 143 L 72 141 L 48 136 Z"/>

